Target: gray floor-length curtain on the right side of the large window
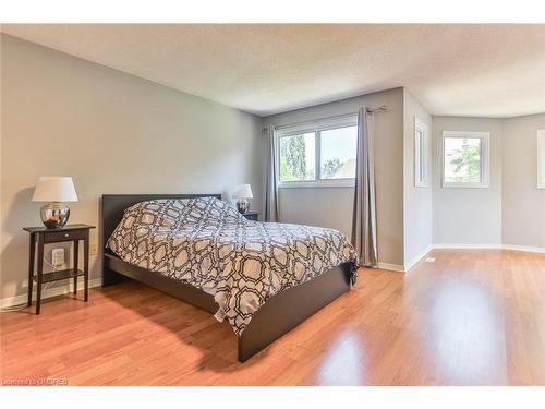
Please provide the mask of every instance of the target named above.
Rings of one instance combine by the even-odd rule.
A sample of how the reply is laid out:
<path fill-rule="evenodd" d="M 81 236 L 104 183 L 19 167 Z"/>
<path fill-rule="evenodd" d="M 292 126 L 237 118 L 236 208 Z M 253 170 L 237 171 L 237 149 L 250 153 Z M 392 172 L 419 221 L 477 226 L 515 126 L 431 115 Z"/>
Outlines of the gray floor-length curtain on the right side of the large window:
<path fill-rule="evenodd" d="M 358 112 L 352 244 L 360 256 L 360 265 L 365 267 L 377 264 L 373 116 L 366 108 Z"/>

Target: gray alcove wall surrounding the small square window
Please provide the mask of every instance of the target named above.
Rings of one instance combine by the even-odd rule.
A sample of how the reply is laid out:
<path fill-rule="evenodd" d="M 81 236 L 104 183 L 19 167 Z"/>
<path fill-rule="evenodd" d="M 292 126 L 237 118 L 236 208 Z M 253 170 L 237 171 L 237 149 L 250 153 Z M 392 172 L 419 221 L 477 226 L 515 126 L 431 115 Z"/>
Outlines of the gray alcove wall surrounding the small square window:
<path fill-rule="evenodd" d="M 501 120 L 433 118 L 433 205 L 435 244 L 501 243 Z M 441 187 L 443 131 L 489 132 L 489 188 Z"/>

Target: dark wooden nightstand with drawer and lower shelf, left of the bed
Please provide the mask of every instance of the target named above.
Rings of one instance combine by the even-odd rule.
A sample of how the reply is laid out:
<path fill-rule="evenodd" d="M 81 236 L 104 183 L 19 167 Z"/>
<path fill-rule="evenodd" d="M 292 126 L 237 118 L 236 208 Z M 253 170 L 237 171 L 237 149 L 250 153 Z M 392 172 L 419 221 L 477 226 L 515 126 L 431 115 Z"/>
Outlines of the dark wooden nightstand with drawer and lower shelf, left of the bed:
<path fill-rule="evenodd" d="M 88 225 L 66 225 L 60 229 L 48 229 L 46 227 L 25 227 L 23 230 L 31 233 L 31 251 L 28 257 L 28 303 L 33 302 L 33 282 L 36 281 L 36 314 L 39 314 L 41 303 L 41 285 L 44 282 L 58 281 L 63 279 L 74 279 L 74 294 L 77 293 L 77 277 L 84 276 L 84 301 L 88 299 L 89 291 L 89 230 L 95 226 Z M 83 270 L 78 268 L 80 240 L 83 240 Z M 71 241 L 74 243 L 74 266 L 69 269 L 62 269 L 44 274 L 44 244 L 61 243 Z M 36 273 L 34 272 L 34 261 L 37 260 Z"/>

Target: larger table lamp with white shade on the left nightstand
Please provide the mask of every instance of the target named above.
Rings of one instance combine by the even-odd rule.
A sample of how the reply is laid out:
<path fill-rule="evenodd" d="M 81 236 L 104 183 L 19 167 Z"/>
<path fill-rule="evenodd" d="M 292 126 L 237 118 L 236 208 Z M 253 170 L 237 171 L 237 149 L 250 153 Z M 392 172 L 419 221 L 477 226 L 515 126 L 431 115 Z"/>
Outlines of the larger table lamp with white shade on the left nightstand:
<path fill-rule="evenodd" d="M 77 202 L 74 181 L 65 176 L 43 176 L 36 183 L 33 202 L 47 202 L 40 209 L 41 221 L 48 229 L 60 229 L 70 217 L 64 202 Z"/>

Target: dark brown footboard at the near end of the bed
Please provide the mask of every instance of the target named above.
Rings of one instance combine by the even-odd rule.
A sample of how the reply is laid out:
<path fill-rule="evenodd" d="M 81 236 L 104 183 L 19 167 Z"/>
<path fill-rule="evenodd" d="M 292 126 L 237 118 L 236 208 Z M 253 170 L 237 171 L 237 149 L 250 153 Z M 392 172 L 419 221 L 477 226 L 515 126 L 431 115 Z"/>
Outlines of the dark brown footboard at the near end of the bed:
<path fill-rule="evenodd" d="M 341 264 L 318 278 L 271 297 L 239 337 L 239 361 L 249 360 L 349 289 L 349 266 Z"/>

